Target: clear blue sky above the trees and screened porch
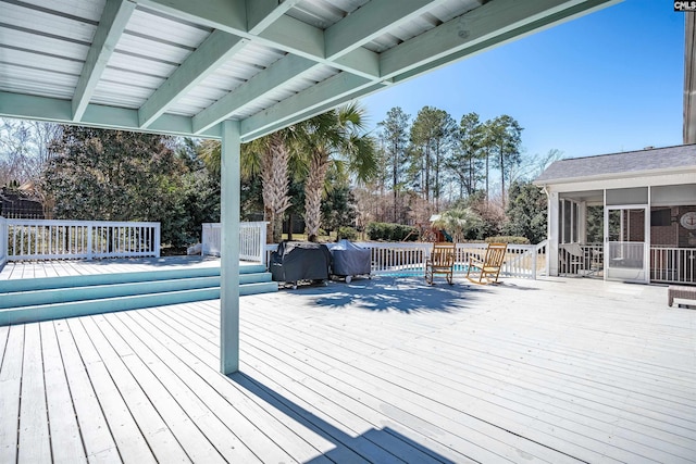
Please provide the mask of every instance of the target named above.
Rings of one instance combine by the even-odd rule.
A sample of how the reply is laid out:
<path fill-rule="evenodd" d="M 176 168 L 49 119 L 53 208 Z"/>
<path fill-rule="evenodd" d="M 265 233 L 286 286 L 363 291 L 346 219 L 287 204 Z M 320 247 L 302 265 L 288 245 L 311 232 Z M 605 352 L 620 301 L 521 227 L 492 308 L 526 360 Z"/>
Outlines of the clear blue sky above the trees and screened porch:
<path fill-rule="evenodd" d="M 566 158 L 682 143 L 684 14 L 625 0 L 361 100 L 376 125 L 394 106 L 456 121 L 509 114 L 530 155 Z"/>

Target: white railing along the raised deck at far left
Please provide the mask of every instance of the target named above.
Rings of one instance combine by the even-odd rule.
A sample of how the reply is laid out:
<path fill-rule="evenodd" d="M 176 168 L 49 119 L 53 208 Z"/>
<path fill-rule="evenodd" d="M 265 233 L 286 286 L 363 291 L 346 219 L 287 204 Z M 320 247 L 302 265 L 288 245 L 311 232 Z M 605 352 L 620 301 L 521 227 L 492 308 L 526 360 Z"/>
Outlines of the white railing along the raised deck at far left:
<path fill-rule="evenodd" d="M 160 255 L 160 223 L 3 218 L 0 228 L 0 262 Z"/>

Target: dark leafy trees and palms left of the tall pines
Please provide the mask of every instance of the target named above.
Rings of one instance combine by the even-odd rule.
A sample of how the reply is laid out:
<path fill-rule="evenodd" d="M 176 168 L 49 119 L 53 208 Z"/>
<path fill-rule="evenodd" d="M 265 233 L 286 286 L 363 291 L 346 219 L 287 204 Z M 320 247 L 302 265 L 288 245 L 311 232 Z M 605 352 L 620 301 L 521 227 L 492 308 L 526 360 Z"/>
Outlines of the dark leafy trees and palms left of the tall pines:
<path fill-rule="evenodd" d="M 30 129 L 45 123 L 30 124 L 3 121 L 7 130 L 0 138 L 33 134 L 17 143 L 38 143 L 40 134 Z M 34 153 L 22 161 L 17 153 L 23 152 L 0 150 L 0 180 L 8 186 L 30 184 L 48 217 L 158 221 L 162 242 L 175 247 L 198 239 L 201 223 L 220 221 L 219 141 L 50 127 L 53 137 L 40 140 L 45 158 Z M 26 168 L 35 164 L 36 170 Z M 288 213 L 303 217 L 310 240 L 318 239 L 322 225 L 353 225 L 351 181 L 364 181 L 377 171 L 373 139 L 364 131 L 364 109 L 357 104 L 243 145 L 240 164 L 243 218 L 257 218 L 254 213 L 261 212 L 275 242 Z"/>

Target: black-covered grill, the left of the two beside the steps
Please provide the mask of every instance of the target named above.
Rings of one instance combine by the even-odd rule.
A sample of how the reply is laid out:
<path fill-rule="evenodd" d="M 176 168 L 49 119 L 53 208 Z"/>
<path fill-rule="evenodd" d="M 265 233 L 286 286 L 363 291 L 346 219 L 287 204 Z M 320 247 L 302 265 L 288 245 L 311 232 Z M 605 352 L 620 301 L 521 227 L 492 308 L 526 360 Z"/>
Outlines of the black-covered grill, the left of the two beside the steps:
<path fill-rule="evenodd" d="M 271 253 L 271 277 L 275 281 L 328 279 L 331 253 L 325 244 L 284 241 Z"/>

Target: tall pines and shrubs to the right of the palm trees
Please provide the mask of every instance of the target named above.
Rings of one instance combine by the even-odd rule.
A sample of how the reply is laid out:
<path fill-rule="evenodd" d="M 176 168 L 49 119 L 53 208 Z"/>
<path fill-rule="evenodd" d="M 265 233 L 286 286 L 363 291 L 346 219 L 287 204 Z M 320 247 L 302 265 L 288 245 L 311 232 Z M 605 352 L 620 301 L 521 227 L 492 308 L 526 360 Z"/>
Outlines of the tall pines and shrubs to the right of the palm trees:
<path fill-rule="evenodd" d="M 525 230 L 515 223 L 519 214 L 509 210 L 519 205 L 520 195 L 540 204 L 530 179 L 562 153 L 525 155 L 522 130 L 507 114 L 482 121 L 472 112 L 457 122 L 433 106 L 422 108 L 415 117 L 399 106 L 390 109 L 375 135 L 384 168 L 356 190 L 360 221 L 422 225 L 447 213 L 442 221 L 450 221 L 448 227 L 461 229 L 465 239 Z M 540 230 L 546 206 L 538 208 L 544 224 L 535 233 L 524 231 L 534 241 L 546 235 Z M 467 227 L 457 226 L 464 223 Z"/>

